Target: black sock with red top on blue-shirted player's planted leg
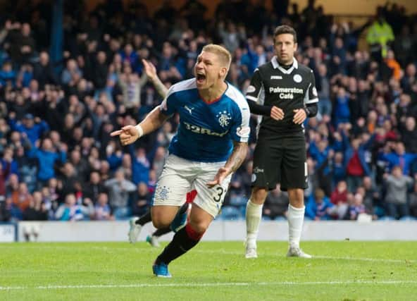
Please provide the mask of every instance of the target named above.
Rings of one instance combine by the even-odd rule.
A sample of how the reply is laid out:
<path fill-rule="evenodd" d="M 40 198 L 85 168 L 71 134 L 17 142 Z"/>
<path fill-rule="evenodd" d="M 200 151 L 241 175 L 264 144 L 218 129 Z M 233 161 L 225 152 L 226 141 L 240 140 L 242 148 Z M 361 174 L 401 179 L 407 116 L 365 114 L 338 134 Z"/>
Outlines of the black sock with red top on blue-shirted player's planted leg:
<path fill-rule="evenodd" d="M 197 245 L 203 235 L 204 233 L 197 233 L 187 223 L 187 226 L 175 233 L 173 240 L 163 249 L 163 252 L 156 258 L 155 263 L 161 264 L 163 262 L 164 264 L 169 264 Z"/>

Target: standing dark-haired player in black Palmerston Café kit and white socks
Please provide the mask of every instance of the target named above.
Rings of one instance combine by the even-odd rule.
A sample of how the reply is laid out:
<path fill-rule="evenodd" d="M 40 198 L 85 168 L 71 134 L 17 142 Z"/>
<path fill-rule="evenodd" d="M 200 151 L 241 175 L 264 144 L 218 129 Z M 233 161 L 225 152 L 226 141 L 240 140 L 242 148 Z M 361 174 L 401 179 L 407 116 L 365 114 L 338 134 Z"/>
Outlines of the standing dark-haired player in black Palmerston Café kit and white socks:
<path fill-rule="evenodd" d="M 274 32 L 275 56 L 257 68 L 246 98 L 251 113 L 262 115 L 254 151 L 252 192 L 247 202 L 246 257 L 258 257 L 256 236 L 268 190 L 280 182 L 287 190 L 288 257 L 311 258 L 299 247 L 307 188 L 306 142 L 303 123 L 316 116 L 317 91 L 313 71 L 294 59 L 297 34 L 287 25 Z"/>

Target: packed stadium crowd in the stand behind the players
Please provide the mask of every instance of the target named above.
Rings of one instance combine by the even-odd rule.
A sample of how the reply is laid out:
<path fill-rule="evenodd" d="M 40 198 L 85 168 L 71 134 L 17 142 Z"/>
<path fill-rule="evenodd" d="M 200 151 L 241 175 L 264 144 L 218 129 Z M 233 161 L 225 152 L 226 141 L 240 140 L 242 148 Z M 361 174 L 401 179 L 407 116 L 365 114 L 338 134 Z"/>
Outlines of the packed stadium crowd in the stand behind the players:
<path fill-rule="evenodd" d="M 318 117 L 305 124 L 306 218 L 417 217 L 417 18 L 404 8 L 379 7 L 355 27 L 335 22 L 314 1 L 302 11 L 288 1 L 273 1 L 273 10 L 222 1 L 210 19 L 194 0 L 181 8 L 164 1 L 152 17 L 137 1 L 125 8 L 104 1 L 89 13 L 80 3 L 66 1 L 61 61 L 47 51 L 49 6 L 30 4 L 1 20 L 0 221 L 144 214 L 178 118 L 134 146 L 110 137 L 162 100 L 141 60 L 153 62 L 169 87 L 193 76 L 204 44 L 223 44 L 233 57 L 228 81 L 245 92 L 257 66 L 273 56 L 278 24 L 297 30 L 297 61 L 313 70 L 320 99 Z M 252 152 L 232 178 L 220 219 L 244 218 Z M 278 186 L 264 218 L 285 219 L 287 204 Z"/>

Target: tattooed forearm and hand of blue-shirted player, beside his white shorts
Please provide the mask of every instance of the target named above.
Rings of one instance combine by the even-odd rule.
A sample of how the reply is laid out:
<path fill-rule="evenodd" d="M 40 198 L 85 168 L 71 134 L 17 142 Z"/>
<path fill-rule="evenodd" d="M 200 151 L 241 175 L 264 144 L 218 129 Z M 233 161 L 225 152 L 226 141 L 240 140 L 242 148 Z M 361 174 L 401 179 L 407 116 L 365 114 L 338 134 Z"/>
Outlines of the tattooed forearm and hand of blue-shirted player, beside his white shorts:
<path fill-rule="evenodd" d="M 237 171 L 237 168 L 242 165 L 247 154 L 247 142 L 234 142 L 233 152 L 229 156 L 228 161 L 226 161 L 225 166 L 219 168 L 214 179 L 207 183 L 209 188 L 212 188 L 215 185 L 220 185 L 222 181 L 230 175 Z"/>

